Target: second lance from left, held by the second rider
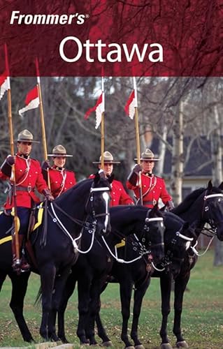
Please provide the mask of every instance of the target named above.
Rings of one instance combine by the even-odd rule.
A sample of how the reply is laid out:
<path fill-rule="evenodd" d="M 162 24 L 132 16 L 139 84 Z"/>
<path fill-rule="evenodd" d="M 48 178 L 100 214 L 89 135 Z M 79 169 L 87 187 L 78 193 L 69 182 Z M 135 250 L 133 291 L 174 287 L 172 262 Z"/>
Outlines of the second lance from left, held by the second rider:
<path fill-rule="evenodd" d="M 42 130 L 42 139 L 43 139 L 43 156 L 44 160 L 48 160 L 48 151 L 47 151 L 47 145 L 46 145 L 46 137 L 45 137 L 45 122 L 44 122 L 44 114 L 43 114 L 43 100 L 42 100 L 42 93 L 41 93 L 41 77 L 39 73 L 39 67 L 38 67 L 38 59 L 36 58 L 36 78 L 37 78 L 37 90 L 38 90 L 38 98 L 39 98 L 39 107 L 41 112 L 41 130 Z M 50 174 L 48 170 L 48 188 L 50 188 Z"/>

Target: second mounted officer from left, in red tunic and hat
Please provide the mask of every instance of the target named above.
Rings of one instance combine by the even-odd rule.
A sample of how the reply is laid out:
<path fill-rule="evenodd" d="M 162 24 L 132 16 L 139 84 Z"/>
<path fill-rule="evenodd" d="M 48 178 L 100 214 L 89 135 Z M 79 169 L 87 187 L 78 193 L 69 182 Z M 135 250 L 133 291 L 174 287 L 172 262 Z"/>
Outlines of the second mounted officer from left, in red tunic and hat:
<path fill-rule="evenodd" d="M 52 157 L 54 165 L 50 167 L 48 161 L 43 162 L 43 177 L 45 181 L 48 181 L 48 170 L 50 176 L 50 190 L 53 197 L 57 198 L 64 193 L 64 191 L 67 191 L 67 189 L 76 184 L 75 173 L 64 168 L 66 158 L 73 155 L 66 154 L 64 146 L 58 144 L 52 149 L 52 154 L 48 154 L 48 156 Z"/>

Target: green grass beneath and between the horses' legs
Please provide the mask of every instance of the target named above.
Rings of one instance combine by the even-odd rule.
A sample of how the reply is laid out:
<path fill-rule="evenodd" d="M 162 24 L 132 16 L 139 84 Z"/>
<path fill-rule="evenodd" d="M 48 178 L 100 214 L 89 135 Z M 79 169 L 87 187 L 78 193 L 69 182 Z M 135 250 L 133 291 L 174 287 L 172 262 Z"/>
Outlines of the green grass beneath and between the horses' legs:
<path fill-rule="evenodd" d="M 38 287 L 39 278 L 32 274 L 25 299 L 24 314 L 34 339 L 41 342 L 41 337 L 38 334 L 41 308 L 34 306 Z M 223 348 L 223 267 L 213 267 L 213 253 L 211 251 L 199 258 L 192 270 L 188 288 L 189 291 L 185 292 L 182 313 L 182 331 L 189 348 Z M 0 295 L 0 346 L 25 346 L 13 313 L 8 306 L 10 290 L 10 281 L 7 279 Z M 171 298 L 173 310 L 173 294 Z M 122 316 L 118 285 L 108 285 L 101 301 L 101 318 L 110 339 L 113 341 L 113 347 L 115 349 L 124 348 L 124 344 L 120 340 Z M 143 300 L 138 330 L 143 345 L 148 349 L 158 348 L 161 342 L 159 337 L 160 305 L 159 279 L 152 279 L 150 288 Z M 75 336 L 77 323 L 77 292 L 75 292 L 66 311 L 66 335 L 71 343 L 75 343 L 75 348 L 79 348 L 79 342 Z M 130 327 L 131 322 L 129 323 Z M 172 334 L 172 327 L 173 311 L 168 319 L 168 333 L 171 344 L 174 346 L 175 337 Z"/>

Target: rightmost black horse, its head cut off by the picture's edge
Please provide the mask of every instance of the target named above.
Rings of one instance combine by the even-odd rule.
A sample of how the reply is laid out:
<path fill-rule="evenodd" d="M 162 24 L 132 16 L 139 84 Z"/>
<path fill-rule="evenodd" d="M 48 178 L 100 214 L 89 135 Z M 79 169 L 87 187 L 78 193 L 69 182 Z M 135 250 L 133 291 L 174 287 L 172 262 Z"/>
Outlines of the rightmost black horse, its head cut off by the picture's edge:
<path fill-rule="evenodd" d="M 208 232 L 213 232 L 220 241 L 223 241 L 223 183 L 217 188 L 209 181 L 207 188 L 199 188 L 183 200 L 173 209 L 173 212 L 181 218 L 194 225 L 196 239 L 205 232 L 206 223 L 210 225 Z M 192 246 L 193 247 L 193 246 Z M 197 253 L 194 248 L 189 248 L 182 263 L 180 273 L 175 278 L 174 287 L 174 323 L 173 334 L 175 334 L 178 348 L 188 348 L 188 344 L 181 332 L 181 314 L 183 295 L 189 281 L 190 271 L 196 264 Z M 162 323 L 160 329 L 161 348 L 170 349 L 171 344 L 167 336 L 167 320 L 171 311 L 171 276 L 166 274 L 160 278 L 161 283 L 161 313 Z"/>

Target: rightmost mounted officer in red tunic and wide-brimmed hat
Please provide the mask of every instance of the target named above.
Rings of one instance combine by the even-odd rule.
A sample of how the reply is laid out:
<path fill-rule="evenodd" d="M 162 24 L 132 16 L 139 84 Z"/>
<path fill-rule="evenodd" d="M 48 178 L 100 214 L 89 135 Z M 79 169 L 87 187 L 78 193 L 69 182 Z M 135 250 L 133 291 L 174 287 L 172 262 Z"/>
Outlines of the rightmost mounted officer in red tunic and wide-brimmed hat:
<path fill-rule="evenodd" d="M 135 160 L 137 159 L 135 158 Z M 141 154 L 140 160 L 141 165 L 135 165 L 127 179 L 127 188 L 134 191 L 137 203 L 140 202 L 142 191 L 143 206 L 152 208 L 160 198 L 168 210 L 173 209 L 173 201 L 166 190 L 164 179 L 152 173 L 154 163 L 159 161 L 159 158 L 155 158 L 153 152 L 147 148 Z M 141 188 L 139 172 L 141 172 Z"/>

